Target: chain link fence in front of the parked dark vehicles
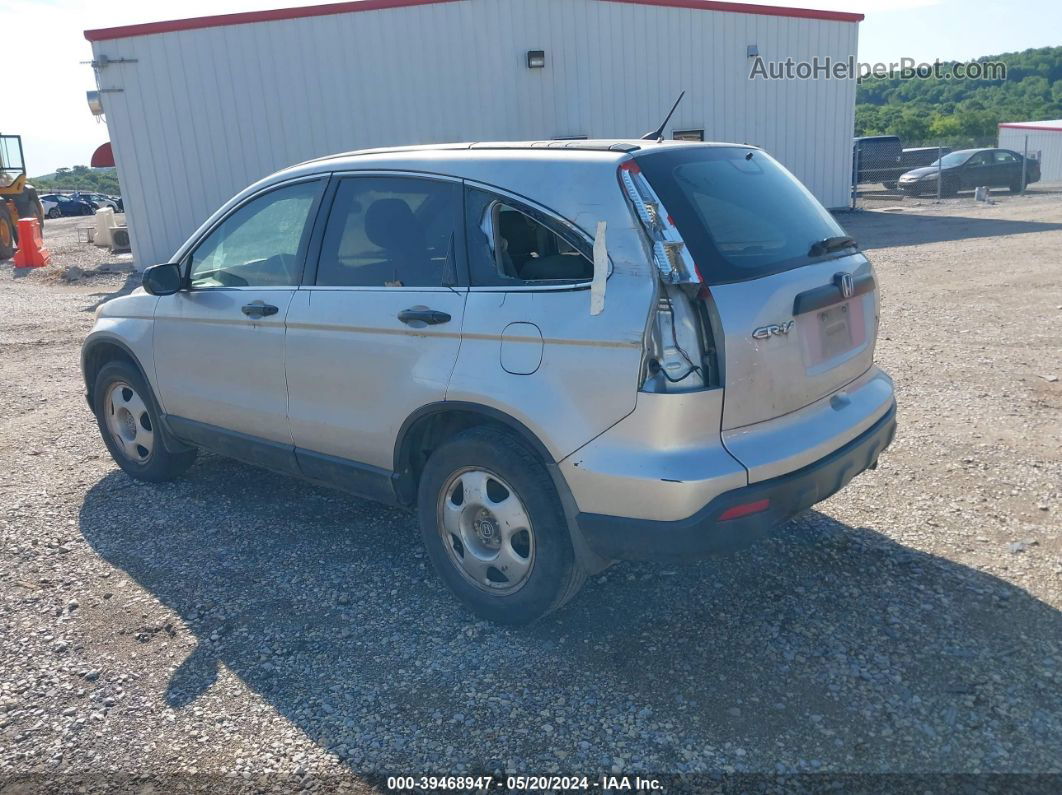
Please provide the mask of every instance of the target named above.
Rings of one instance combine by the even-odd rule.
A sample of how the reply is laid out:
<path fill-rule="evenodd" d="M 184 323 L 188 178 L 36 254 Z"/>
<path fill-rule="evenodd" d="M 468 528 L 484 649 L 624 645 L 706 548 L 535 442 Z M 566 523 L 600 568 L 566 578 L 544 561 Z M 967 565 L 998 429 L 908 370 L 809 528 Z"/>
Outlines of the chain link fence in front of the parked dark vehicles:
<path fill-rule="evenodd" d="M 1040 152 L 1029 150 L 1028 145 L 1012 153 L 982 152 L 971 156 L 964 152 L 995 146 L 996 142 L 988 139 L 911 142 L 897 136 L 856 138 L 852 153 L 852 206 L 864 204 L 864 200 L 904 196 L 950 198 L 980 187 L 1022 192 L 1039 180 Z"/>

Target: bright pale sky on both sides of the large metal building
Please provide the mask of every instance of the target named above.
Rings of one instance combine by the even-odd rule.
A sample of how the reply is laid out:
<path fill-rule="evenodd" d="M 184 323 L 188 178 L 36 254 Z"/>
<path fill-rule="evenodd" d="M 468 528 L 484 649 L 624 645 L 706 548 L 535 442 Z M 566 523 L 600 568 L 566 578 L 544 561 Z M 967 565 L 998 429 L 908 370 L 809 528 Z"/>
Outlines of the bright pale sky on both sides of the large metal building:
<path fill-rule="evenodd" d="M 0 132 L 22 136 L 32 175 L 87 165 L 107 140 L 85 104 L 95 88 L 84 31 L 241 11 L 319 5 L 325 0 L 0 0 L 5 102 Z M 504 2 L 504 0 L 498 0 Z M 1062 2 L 1023 0 L 744 0 L 758 5 L 857 12 L 859 59 L 967 59 L 1062 45 Z M 22 35 L 15 35 L 16 32 Z M 18 65 L 13 67 L 13 65 Z M 29 68 L 24 65 L 33 65 Z"/>

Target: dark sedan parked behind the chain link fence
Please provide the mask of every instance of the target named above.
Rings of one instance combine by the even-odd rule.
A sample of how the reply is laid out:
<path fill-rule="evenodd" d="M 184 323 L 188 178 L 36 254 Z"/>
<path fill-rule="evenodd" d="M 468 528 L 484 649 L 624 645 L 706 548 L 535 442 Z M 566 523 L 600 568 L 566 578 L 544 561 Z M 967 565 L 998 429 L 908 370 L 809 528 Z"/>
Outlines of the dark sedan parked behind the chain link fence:
<path fill-rule="evenodd" d="M 921 169 L 900 177 L 900 189 L 907 195 L 937 193 L 941 179 L 942 196 L 954 196 L 960 190 L 980 186 L 1009 188 L 1017 193 L 1022 185 L 1022 156 L 1009 149 L 961 149 Z M 1040 161 L 1029 158 L 1025 169 L 1025 185 L 1040 182 Z"/>

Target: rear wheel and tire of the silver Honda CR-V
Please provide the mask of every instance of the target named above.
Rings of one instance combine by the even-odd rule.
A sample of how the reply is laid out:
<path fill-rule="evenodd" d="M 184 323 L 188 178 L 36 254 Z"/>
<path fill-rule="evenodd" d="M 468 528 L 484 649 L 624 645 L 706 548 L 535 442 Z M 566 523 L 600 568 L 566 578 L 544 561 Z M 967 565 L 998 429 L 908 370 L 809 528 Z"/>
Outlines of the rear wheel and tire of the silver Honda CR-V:
<path fill-rule="evenodd" d="M 520 438 L 493 427 L 435 450 L 417 492 L 421 535 L 440 578 L 475 613 L 528 624 L 586 578 L 553 482 Z"/>

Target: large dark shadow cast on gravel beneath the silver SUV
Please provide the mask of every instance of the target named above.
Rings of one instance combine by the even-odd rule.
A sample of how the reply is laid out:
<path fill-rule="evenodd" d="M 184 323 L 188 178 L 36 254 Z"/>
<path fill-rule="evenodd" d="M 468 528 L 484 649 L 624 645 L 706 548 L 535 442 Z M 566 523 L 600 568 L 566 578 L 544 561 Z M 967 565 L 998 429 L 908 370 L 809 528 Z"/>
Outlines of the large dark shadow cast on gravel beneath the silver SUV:
<path fill-rule="evenodd" d="M 1062 758 L 1062 616 L 816 512 L 730 557 L 616 566 L 524 629 L 451 600 L 411 514 L 212 455 L 166 485 L 108 474 L 80 526 L 176 613 L 100 608 L 158 699 L 192 704 L 224 666 L 358 773 Z"/>

